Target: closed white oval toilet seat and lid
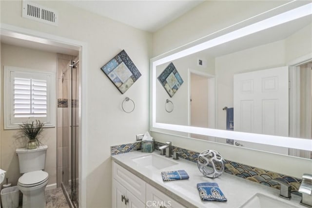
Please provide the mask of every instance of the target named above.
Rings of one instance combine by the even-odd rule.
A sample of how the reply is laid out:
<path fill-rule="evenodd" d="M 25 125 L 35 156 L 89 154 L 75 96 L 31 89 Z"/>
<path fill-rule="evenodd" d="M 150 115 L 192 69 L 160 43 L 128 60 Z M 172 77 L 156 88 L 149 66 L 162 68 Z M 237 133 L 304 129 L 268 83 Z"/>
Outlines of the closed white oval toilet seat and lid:
<path fill-rule="evenodd" d="M 43 184 L 49 179 L 49 174 L 42 170 L 24 173 L 19 178 L 19 185 L 21 187 L 35 187 Z"/>

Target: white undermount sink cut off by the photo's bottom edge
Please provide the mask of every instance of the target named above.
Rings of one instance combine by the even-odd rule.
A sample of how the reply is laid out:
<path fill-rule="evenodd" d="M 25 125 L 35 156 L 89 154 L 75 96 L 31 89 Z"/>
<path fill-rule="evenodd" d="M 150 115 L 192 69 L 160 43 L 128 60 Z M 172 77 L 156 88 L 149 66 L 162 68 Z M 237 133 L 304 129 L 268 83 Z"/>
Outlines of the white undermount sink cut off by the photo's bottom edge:
<path fill-rule="evenodd" d="M 264 194 L 256 193 L 240 208 L 294 208 L 294 206 Z"/>

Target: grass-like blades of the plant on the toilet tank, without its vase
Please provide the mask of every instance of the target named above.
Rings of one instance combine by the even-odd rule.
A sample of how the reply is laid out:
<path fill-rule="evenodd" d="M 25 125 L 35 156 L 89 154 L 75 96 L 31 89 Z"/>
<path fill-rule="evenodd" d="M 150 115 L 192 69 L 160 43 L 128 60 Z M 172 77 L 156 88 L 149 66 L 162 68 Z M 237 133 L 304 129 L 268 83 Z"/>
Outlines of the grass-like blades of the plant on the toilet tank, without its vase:
<path fill-rule="evenodd" d="M 34 121 L 31 123 L 23 122 L 23 124 L 20 124 L 19 126 L 21 134 L 27 137 L 29 142 L 37 142 L 39 144 L 38 136 L 43 131 L 43 123 L 36 120 L 36 123 L 34 123 Z"/>

